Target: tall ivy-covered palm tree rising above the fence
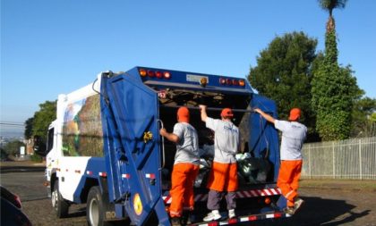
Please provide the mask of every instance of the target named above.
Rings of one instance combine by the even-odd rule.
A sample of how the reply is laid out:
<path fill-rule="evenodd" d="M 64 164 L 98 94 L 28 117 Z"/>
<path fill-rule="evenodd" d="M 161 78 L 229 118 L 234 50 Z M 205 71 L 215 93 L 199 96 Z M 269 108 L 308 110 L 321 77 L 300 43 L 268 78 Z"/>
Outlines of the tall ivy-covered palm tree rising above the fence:
<path fill-rule="evenodd" d="M 312 79 L 312 107 L 316 110 L 316 130 L 323 140 L 345 139 L 350 135 L 353 103 L 361 96 L 350 66 L 338 65 L 334 8 L 344 8 L 346 1 L 324 1 L 329 11 L 325 34 L 325 54 Z"/>

